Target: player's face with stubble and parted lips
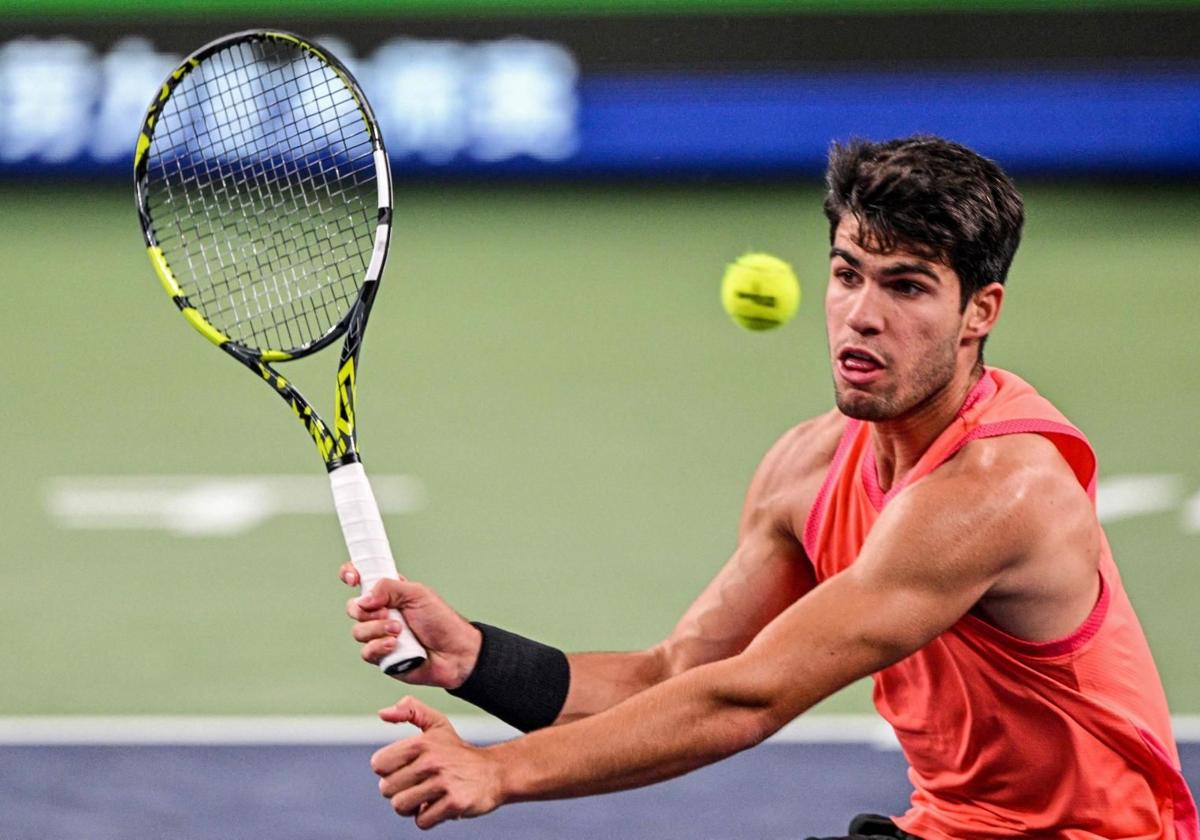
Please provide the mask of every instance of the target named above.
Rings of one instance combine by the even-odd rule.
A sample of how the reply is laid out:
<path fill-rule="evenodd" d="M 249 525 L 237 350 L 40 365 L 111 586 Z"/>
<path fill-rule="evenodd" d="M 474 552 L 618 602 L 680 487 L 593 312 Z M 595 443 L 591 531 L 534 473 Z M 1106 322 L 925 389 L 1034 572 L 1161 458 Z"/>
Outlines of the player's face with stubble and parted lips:
<path fill-rule="evenodd" d="M 960 365 L 973 365 L 974 349 L 960 353 L 965 316 L 952 268 L 902 246 L 868 251 L 857 234 L 858 220 L 845 216 L 829 257 L 826 330 L 838 408 L 896 420 L 941 394 Z"/>

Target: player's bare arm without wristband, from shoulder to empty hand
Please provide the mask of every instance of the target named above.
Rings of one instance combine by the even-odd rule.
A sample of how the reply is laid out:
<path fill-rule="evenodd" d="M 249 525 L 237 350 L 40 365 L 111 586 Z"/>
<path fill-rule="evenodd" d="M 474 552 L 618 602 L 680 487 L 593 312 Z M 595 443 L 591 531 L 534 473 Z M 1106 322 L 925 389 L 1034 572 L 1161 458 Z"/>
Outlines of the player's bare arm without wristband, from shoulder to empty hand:
<path fill-rule="evenodd" d="M 1094 530 L 1094 511 L 1046 446 L 1032 436 L 970 444 L 892 500 L 852 566 L 784 610 L 740 653 L 592 716 L 479 749 L 444 716 L 401 701 L 384 719 L 424 734 L 376 752 L 380 791 L 428 828 L 506 802 L 647 785 L 757 744 L 972 608 L 992 607 L 983 612 L 1031 638 L 1073 628 L 1094 602 L 1097 557 L 1087 540 L 1062 534 Z M 1003 607 L 1018 602 L 1006 619 Z"/>

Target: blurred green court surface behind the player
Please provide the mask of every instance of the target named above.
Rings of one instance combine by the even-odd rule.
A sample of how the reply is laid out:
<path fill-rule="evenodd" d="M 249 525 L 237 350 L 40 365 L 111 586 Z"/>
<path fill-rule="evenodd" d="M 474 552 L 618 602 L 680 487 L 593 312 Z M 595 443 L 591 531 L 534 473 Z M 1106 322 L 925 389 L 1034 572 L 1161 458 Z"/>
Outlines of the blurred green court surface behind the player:
<path fill-rule="evenodd" d="M 732 550 L 761 454 L 830 404 L 818 187 L 398 186 L 359 419 L 368 472 L 424 488 L 386 517 L 403 571 L 566 648 L 654 642 Z M 162 294 L 130 192 L 0 187 L 0 715 L 391 702 L 349 638 L 331 506 L 191 536 L 52 515 L 72 476 L 323 480 L 286 406 Z M 1026 192 L 988 360 L 1090 434 L 1102 479 L 1160 476 L 1109 535 L 1172 710 L 1200 713 L 1200 191 Z M 750 248 L 804 282 L 773 334 L 718 304 Z M 334 365 L 290 370 L 322 410 Z M 856 686 L 823 708 L 868 706 Z"/>

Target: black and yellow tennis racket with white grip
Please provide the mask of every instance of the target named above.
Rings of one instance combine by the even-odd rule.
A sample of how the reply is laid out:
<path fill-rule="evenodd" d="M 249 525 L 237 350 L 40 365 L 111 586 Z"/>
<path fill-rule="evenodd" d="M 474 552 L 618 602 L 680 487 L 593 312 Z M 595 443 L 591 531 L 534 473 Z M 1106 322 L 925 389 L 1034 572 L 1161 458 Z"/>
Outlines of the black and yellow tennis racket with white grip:
<path fill-rule="evenodd" d="M 391 233 L 388 155 L 358 83 L 290 32 L 217 38 L 163 82 L 133 170 L 142 232 L 167 294 L 308 430 L 362 590 L 397 577 L 354 421 L 362 332 Z M 272 364 L 342 336 L 329 425 Z M 396 676 L 425 656 L 404 626 L 380 667 Z"/>

